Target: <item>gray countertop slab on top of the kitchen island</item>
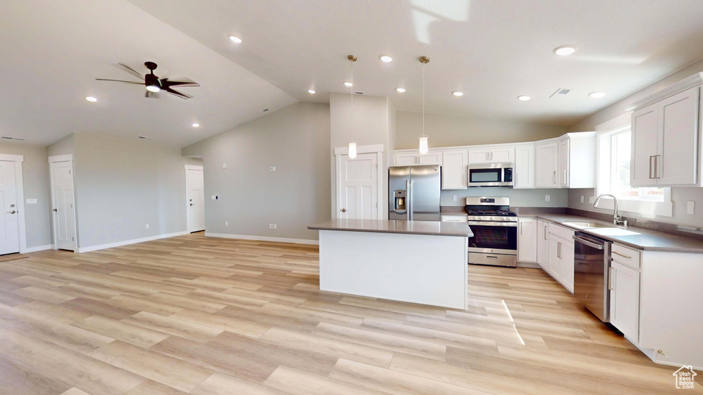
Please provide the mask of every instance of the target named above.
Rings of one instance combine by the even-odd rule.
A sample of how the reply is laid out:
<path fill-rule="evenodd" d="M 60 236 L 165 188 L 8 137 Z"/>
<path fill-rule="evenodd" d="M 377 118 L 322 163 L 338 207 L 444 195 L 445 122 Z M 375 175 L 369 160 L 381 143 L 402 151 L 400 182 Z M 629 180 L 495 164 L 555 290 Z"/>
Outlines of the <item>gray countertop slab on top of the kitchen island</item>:
<path fill-rule="evenodd" d="M 401 233 L 408 235 L 472 237 L 471 228 L 464 222 L 440 221 L 384 221 L 375 219 L 332 219 L 308 226 L 314 231 L 347 231 L 372 233 Z"/>

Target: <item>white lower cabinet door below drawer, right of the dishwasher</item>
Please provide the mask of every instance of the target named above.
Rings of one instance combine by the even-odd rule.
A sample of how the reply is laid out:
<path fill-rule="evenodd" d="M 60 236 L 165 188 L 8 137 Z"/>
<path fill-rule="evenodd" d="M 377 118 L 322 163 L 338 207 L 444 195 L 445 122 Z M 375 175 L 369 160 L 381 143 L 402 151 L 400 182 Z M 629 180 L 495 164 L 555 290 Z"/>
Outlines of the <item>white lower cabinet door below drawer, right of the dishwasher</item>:
<path fill-rule="evenodd" d="M 639 341 L 640 272 L 617 261 L 610 266 L 610 323 L 633 342 Z"/>

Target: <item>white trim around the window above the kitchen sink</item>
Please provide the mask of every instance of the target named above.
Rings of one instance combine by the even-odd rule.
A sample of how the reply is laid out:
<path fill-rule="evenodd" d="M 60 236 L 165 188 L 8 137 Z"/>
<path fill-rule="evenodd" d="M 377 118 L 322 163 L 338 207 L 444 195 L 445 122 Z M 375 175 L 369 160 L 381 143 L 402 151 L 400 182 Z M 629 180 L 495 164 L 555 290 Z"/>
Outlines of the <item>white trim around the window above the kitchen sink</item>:
<path fill-rule="evenodd" d="M 601 180 L 601 174 L 604 169 L 602 168 L 602 157 L 601 157 L 601 149 L 600 149 L 600 138 L 605 135 L 605 134 L 613 134 L 614 132 L 618 131 L 618 129 L 622 129 L 624 127 L 630 126 L 631 123 L 631 117 L 629 114 L 617 117 L 615 119 L 611 119 L 608 122 L 605 122 L 603 124 L 598 125 L 595 129 L 598 131 L 596 133 L 596 144 L 597 144 L 597 153 L 598 153 L 598 158 L 596 162 L 596 167 L 598 169 L 597 173 L 597 183 L 595 187 L 595 193 L 596 195 L 600 195 L 602 193 L 610 193 L 610 185 L 608 186 L 607 190 L 605 186 L 602 183 Z M 609 150 L 609 157 L 608 162 L 610 163 L 610 159 L 612 158 L 612 153 L 610 153 Z M 610 164 L 608 164 L 608 169 L 612 169 Z M 610 177 L 608 178 L 610 181 Z M 607 196 L 603 197 L 603 199 L 600 201 L 600 204 L 598 205 L 599 209 L 609 209 L 612 210 L 614 208 L 614 200 L 612 197 Z M 631 199 L 619 199 L 618 200 L 618 209 L 623 212 L 631 212 L 635 214 L 640 214 L 640 216 L 644 217 L 650 217 L 653 218 L 655 216 L 673 216 L 673 202 L 671 202 L 671 188 L 664 188 L 664 202 L 650 202 L 647 200 L 631 200 Z"/>

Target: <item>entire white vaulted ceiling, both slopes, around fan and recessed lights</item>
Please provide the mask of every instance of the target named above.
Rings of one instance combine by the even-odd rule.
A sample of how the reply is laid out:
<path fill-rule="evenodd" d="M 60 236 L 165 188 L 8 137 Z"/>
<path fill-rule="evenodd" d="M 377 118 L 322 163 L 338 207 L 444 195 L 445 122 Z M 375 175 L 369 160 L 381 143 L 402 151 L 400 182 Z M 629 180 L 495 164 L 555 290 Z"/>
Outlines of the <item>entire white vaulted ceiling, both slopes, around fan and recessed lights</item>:
<path fill-rule="evenodd" d="M 561 125 L 703 58 L 700 0 L 5 3 L 0 136 L 42 145 L 74 131 L 188 145 L 263 116 L 262 108 L 348 91 L 350 53 L 359 58 L 355 90 L 389 96 L 399 110 L 422 109 L 424 55 L 428 112 Z M 579 50 L 555 56 L 564 44 Z M 382 63 L 382 54 L 395 60 Z M 195 98 L 146 99 L 143 87 L 94 80 L 130 79 L 118 62 L 145 74 L 146 60 L 158 63 L 159 77 L 199 82 L 182 89 Z M 559 88 L 572 92 L 548 98 Z M 596 100 L 591 91 L 608 95 Z"/>

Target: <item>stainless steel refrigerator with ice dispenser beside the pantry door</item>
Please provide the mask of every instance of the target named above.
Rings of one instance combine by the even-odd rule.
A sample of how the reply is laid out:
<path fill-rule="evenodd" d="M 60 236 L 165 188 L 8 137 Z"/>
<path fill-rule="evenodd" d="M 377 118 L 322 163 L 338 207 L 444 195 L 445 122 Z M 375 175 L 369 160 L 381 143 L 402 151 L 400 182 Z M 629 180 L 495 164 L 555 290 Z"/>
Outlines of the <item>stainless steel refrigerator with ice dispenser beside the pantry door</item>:
<path fill-rule="evenodd" d="M 388 219 L 439 221 L 439 165 L 388 168 Z"/>

